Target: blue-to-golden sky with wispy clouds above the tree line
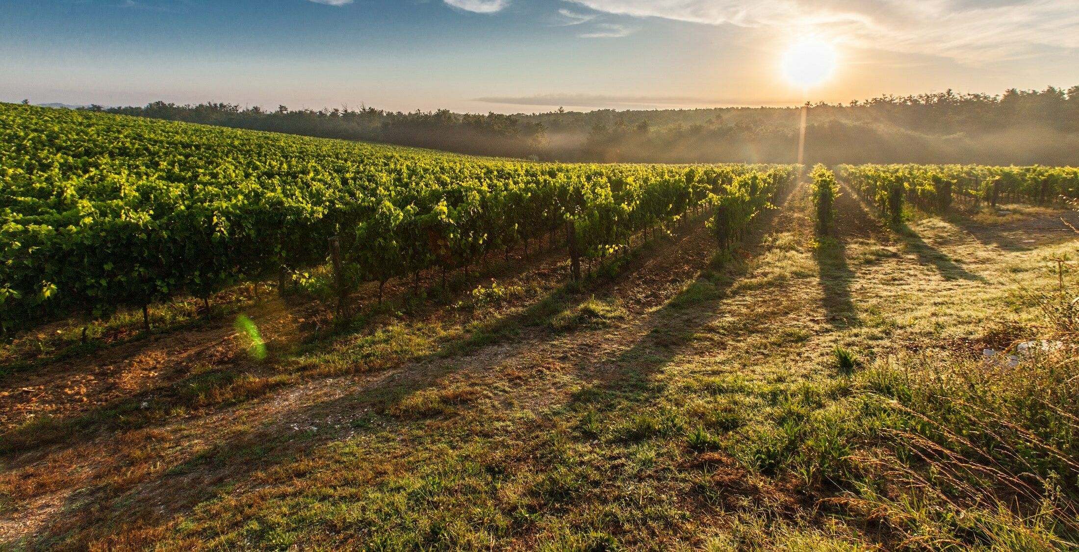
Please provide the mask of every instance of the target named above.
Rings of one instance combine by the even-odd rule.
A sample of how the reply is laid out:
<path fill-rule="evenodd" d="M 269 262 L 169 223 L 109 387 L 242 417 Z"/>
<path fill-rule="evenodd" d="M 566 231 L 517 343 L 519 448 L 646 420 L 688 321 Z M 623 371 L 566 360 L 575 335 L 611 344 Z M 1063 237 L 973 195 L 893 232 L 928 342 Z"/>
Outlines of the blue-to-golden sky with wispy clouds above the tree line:
<path fill-rule="evenodd" d="M 835 54 L 818 85 L 784 53 Z M 1079 85 L 1079 0 L 0 0 L 0 100 L 544 112 Z"/>

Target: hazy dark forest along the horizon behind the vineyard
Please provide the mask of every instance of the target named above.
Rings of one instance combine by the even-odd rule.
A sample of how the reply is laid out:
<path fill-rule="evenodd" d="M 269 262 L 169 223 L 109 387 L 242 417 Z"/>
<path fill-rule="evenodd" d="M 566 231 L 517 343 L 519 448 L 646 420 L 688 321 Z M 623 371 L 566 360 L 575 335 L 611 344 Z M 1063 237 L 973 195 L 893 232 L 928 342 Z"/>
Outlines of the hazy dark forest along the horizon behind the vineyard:
<path fill-rule="evenodd" d="M 516 115 L 162 101 L 87 109 L 477 155 L 601 163 L 792 163 L 801 118 L 797 107 Z M 1079 86 L 996 96 L 947 91 L 807 109 L 807 163 L 1079 165 Z"/>

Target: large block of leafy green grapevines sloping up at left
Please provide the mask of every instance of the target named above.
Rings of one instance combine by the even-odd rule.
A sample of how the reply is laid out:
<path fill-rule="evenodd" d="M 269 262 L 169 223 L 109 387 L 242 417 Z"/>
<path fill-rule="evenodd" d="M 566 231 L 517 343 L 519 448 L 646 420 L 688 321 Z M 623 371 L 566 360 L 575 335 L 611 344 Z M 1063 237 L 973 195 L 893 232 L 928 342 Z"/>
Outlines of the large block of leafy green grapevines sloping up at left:
<path fill-rule="evenodd" d="M 331 237 L 345 293 L 467 274 L 568 227 L 574 258 L 603 258 L 700 209 L 728 246 L 795 174 L 469 158 L 14 105 L 0 148 L 5 331 L 284 281 L 326 262 Z"/>

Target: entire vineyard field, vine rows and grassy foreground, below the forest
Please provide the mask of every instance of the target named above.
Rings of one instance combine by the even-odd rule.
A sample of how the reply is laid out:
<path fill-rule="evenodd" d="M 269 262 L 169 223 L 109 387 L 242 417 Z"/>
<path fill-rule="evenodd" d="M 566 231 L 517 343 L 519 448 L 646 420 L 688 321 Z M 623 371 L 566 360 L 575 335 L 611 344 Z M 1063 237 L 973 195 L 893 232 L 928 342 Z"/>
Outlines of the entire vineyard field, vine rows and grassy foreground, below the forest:
<path fill-rule="evenodd" d="M 78 116 L 46 123 L 107 150 L 79 156 L 68 135 L 41 133 L 32 151 L 74 161 L 27 161 L 14 139 L 0 157 L 8 548 L 1077 546 L 1079 216 L 1052 201 L 1074 169 L 1015 169 L 1022 185 L 994 195 L 986 182 L 1014 171 L 841 167 L 821 227 L 819 181 L 789 166 L 530 164 Z M 107 134 L 118 127 L 126 141 Z M 169 148 L 181 138 L 209 146 Z M 251 151 L 227 143 L 309 148 L 302 170 L 252 155 L 236 178 L 262 187 L 273 172 L 303 220 L 339 218 L 244 226 L 277 204 L 256 197 L 264 188 L 237 197 L 222 163 L 200 180 L 229 193 L 217 242 L 170 258 L 163 244 L 195 238 L 144 224 L 139 242 L 120 222 L 95 242 L 106 207 L 165 220 L 137 215 L 151 188 L 179 190 L 199 168 L 178 163 Z M 148 163 L 159 155 L 169 162 Z M 119 170 L 125 158 L 153 175 Z M 392 178 L 338 178 L 371 160 Z M 413 163 L 431 185 L 411 185 Z M 57 208 L 60 182 L 98 187 L 101 205 Z M 305 195 L 316 184 L 338 211 Z M 168 229 L 201 236 L 202 219 L 178 215 L 185 190 L 153 201 L 173 209 Z M 439 206 L 445 218 L 424 218 Z M 393 215 L 368 226 L 379 213 Z M 56 252 L 35 256 L 27 235 Z M 132 280 L 87 279 L 101 243 L 124 247 L 112 264 Z M 295 244 L 285 262 L 279 244 Z M 68 264 L 32 264 L 60 254 Z M 68 271 L 79 256 L 91 260 Z M 983 354 L 1042 339 L 1017 365 Z"/>

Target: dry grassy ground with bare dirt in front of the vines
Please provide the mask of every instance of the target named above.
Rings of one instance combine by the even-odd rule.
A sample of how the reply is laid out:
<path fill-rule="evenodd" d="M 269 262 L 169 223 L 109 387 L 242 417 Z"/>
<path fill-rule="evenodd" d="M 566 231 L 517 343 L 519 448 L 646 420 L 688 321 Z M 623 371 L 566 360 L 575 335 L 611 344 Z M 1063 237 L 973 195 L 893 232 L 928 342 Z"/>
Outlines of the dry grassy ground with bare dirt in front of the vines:
<path fill-rule="evenodd" d="M 929 452 L 976 454 L 919 441 L 912 420 L 952 420 L 933 394 L 988 397 L 997 418 L 970 410 L 967 427 L 1011 424 L 1060 448 L 1006 408 L 1029 387 L 983 378 L 981 402 L 955 394 L 973 392 L 968 349 L 1037 332 L 1027 290 L 1055 281 L 1049 256 L 1079 248 L 1036 225 L 991 239 L 933 218 L 891 235 L 839 202 L 835 243 L 811 247 L 800 193 L 722 270 L 697 232 L 582 291 L 557 290 L 552 258 L 500 276 L 511 292 L 463 286 L 412 314 L 402 300 L 337 333 L 313 335 L 308 314 L 252 317 L 265 363 L 193 355 L 149 390 L 118 391 L 131 410 L 77 411 L 96 414 L 69 441 L 44 446 L 45 426 L 6 434 L 23 441 L 3 456 L 0 529 L 16 547 L 101 550 L 1066 548 L 1047 536 L 1051 509 L 931 495 L 944 487 Z M 839 367 L 836 350 L 857 362 Z M 891 406 L 882 382 L 896 374 L 920 402 Z M 955 481 L 975 466 L 934 461 Z M 926 493 L 904 493 L 911 482 Z M 934 518 L 946 500 L 979 521 Z"/>

